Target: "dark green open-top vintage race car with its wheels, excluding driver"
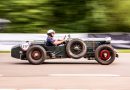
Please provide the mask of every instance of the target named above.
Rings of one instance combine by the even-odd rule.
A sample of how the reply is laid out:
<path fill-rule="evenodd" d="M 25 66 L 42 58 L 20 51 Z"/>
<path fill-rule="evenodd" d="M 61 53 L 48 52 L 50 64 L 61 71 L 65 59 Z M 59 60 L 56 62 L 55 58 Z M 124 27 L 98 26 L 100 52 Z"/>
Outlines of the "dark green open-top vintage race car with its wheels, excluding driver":
<path fill-rule="evenodd" d="M 39 65 L 47 59 L 55 58 L 88 58 L 96 60 L 102 65 L 111 64 L 118 54 L 111 46 L 111 38 L 68 38 L 59 46 L 46 46 L 46 41 L 26 41 L 24 44 L 16 45 L 11 49 L 13 58 L 28 60 L 29 63 Z"/>

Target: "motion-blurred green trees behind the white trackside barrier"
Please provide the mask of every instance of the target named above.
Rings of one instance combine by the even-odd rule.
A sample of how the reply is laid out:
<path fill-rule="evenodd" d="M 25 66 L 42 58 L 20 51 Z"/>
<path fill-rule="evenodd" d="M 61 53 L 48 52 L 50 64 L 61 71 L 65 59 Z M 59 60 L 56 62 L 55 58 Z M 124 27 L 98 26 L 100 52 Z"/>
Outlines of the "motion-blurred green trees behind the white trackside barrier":
<path fill-rule="evenodd" d="M 130 0 L 0 0 L 2 33 L 130 32 Z"/>

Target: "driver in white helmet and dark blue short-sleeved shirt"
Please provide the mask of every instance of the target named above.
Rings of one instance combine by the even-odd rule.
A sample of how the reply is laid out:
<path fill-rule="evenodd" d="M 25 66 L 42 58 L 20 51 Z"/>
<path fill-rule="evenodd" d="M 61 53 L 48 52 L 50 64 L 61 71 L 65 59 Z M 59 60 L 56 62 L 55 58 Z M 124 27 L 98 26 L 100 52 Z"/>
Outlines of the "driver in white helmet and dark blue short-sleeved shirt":
<path fill-rule="evenodd" d="M 47 46 L 57 46 L 65 42 L 65 38 L 62 40 L 55 40 L 54 39 L 55 31 L 52 29 L 47 31 L 47 35 L 48 35 L 47 40 L 46 40 Z"/>

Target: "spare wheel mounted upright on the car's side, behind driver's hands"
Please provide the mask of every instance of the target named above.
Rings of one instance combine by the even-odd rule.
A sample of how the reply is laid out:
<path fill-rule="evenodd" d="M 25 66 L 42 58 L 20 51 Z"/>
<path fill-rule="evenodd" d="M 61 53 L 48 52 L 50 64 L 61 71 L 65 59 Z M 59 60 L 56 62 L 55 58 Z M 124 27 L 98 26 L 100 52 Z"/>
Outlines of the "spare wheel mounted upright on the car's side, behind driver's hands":
<path fill-rule="evenodd" d="M 72 39 L 67 43 L 66 52 L 70 58 L 79 59 L 85 56 L 87 46 L 81 39 Z"/>

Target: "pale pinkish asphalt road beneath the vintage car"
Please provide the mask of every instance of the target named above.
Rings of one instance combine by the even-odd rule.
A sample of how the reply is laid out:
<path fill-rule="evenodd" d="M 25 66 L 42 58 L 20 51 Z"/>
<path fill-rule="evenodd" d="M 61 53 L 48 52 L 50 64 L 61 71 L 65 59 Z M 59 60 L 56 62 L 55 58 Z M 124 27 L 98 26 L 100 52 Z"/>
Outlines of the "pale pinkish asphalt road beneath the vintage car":
<path fill-rule="evenodd" d="M 111 65 L 86 59 L 53 59 L 30 65 L 1 53 L 0 90 L 3 88 L 130 90 L 130 53 L 120 53 Z"/>

